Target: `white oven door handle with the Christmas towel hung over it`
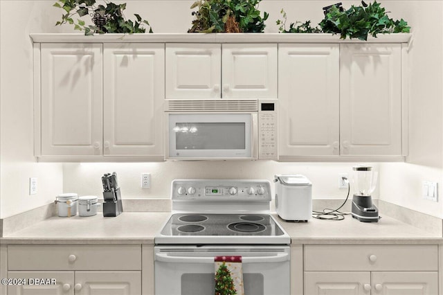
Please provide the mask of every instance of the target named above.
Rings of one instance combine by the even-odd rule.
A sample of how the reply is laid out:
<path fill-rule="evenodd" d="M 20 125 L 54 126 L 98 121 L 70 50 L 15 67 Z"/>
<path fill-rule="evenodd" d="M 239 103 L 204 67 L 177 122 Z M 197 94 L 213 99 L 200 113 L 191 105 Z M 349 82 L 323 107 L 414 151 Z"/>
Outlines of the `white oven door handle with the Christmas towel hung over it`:
<path fill-rule="evenodd" d="M 213 257 L 195 257 L 195 256 L 170 256 L 168 253 L 156 253 L 155 260 L 160 262 L 173 263 L 214 263 Z M 251 256 L 242 257 L 243 263 L 270 263 L 283 262 L 289 260 L 288 253 L 278 253 L 273 256 Z"/>

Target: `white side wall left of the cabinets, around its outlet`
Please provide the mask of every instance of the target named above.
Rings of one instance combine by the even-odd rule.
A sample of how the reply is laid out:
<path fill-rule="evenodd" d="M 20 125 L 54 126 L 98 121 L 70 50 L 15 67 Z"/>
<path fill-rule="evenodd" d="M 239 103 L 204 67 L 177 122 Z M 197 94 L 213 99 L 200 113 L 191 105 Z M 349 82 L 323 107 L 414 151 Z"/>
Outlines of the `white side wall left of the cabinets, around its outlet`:
<path fill-rule="evenodd" d="M 62 165 L 33 157 L 33 52 L 29 33 L 49 27 L 51 1 L 0 1 L 0 218 L 53 202 L 62 192 Z M 29 195 L 29 177 L 39 192 Z"/>

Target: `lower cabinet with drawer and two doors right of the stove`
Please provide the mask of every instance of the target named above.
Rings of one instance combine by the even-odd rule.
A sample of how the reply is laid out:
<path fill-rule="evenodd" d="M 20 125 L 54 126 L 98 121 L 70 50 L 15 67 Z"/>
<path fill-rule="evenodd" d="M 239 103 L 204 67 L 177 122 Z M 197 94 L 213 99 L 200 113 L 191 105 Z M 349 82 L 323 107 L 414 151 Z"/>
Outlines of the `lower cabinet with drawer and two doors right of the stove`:
<path fill-rule="evenodd" d="M 307 245 L 305 295 L 437 295 L 437 245 Z"/>

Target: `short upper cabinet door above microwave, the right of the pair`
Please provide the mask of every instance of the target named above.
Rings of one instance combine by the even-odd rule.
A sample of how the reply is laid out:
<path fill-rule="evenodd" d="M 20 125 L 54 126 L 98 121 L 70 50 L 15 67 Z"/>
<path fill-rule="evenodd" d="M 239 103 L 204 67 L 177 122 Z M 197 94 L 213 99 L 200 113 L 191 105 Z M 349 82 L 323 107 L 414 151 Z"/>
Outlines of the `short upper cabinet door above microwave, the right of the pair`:
<path fill-rule="evenodd" d="M 277 44 L 223 44 L 222 98 L 277 98 Z"/>

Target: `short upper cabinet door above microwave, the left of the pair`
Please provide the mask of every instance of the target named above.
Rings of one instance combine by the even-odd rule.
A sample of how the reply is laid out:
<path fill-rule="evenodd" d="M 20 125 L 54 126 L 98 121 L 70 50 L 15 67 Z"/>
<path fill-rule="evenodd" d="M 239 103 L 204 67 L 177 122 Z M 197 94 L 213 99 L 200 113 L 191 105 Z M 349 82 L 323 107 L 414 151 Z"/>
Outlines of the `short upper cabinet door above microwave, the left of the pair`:
<path fill-rule="evenodd" d="M 221 98 L 220 44 L 166 44 L 166 98 Z"/>

